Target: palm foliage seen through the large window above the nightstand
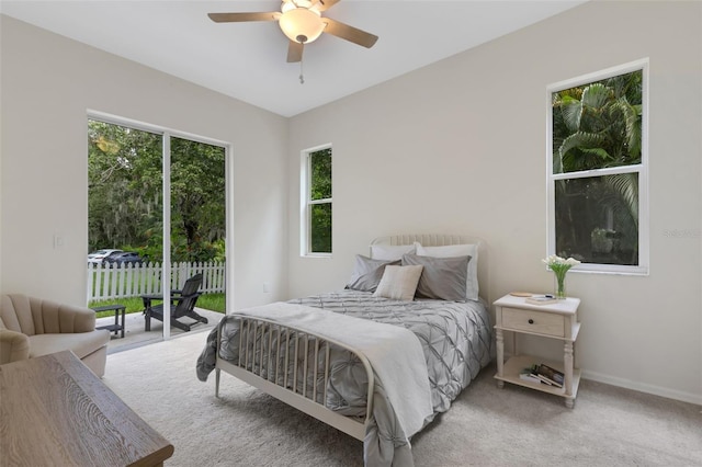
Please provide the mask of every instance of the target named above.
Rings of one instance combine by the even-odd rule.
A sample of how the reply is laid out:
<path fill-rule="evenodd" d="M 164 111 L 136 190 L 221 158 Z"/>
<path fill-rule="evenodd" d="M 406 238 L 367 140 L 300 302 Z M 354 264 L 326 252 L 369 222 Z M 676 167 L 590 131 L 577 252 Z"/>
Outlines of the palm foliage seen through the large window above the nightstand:
<path fill-rule="evenodd" d="M 553 93 L 553 172 L 639 164 L 643 71 Z M 638 173 L 557 180 L 556 252 L 585 262 L 638 262 Z"/>

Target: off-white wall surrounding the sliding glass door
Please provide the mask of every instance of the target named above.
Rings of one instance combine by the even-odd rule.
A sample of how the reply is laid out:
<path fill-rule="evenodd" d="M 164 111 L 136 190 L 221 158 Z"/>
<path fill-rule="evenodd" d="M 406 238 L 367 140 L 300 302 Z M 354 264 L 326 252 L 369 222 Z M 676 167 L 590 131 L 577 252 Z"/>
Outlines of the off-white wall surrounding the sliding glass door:
<path fill-rule="evenodd" d="M 0 18 L 0 292 L 84 305 L 87 111 L 94 110 L 230 143 L 235 305 L 284 296 L 286 118 Z"/>

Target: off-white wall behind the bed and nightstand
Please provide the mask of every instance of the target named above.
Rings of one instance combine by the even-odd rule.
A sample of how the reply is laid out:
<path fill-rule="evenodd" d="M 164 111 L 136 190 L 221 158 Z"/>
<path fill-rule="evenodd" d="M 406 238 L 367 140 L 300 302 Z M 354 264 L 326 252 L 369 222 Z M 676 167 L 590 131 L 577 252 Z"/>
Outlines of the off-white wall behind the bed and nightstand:
<path fill-rule="evenodd" d="M 495 299 L 550 291 L 546 87 L 650 59 L 650 275 L 568 275 L 586 377 L 702 403 L 702 3 L 591 2 L 290 125 L 291 296 L 342 288 L 376 236 L 487 240 Z M 299 151 L 333 145 L 333 258 L 299 258 Z M 686 231 L 676 237 L 671 231 Z M 555 352 L 561 348 L 556 346 Z"/>

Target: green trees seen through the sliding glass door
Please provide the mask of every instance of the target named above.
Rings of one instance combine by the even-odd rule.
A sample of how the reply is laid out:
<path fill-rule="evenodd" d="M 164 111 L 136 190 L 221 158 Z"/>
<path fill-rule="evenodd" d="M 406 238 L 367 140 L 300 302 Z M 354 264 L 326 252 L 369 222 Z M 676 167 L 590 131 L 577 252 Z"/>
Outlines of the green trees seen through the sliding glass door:
<path fill-rule="evenodd" d="M 89 249 L 162 261 L 162 137 L 90 121 Z M 224 261 L 225 150 L 171 138 L 171 260 Z"/>

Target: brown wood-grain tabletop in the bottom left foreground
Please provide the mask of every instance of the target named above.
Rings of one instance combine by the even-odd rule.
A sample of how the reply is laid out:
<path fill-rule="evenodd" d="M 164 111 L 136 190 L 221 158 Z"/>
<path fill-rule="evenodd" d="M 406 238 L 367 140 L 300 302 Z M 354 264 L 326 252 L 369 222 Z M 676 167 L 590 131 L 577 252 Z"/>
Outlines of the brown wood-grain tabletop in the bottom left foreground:
<path fill-rule="evenodd" d="M 162 466 L 172 454 L 71 352 L 0 365 L 0 466 Z"/>

